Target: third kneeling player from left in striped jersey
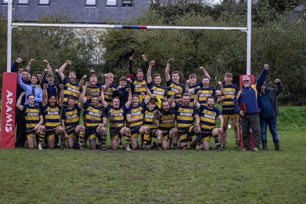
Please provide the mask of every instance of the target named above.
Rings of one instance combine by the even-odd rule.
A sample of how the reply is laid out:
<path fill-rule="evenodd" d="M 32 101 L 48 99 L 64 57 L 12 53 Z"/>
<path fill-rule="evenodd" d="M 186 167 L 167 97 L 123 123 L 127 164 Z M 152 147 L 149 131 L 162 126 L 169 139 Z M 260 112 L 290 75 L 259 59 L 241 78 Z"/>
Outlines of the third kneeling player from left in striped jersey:
<path fill-rule="evenodd" d="M 76 94 L 79 96 L 79 104 L 75 104 L 74 97 L 70 96 L 67 99 L 68 107 L 62 112 L 62 127 L 65 128 L 66 131 L 65 137 L 68 137 L 68 149 L 73 148 L 74 136 L 76 140 L 75 144 L 79 141 L 79 135 L 83 140 L 85 136 L 85 126 L 80 125 L 80 110 L 83 106 L 83 99 L 80 91 L 77 91 Z M 80 150 L 84 150 L 84 147 L 80 146 Z"/>

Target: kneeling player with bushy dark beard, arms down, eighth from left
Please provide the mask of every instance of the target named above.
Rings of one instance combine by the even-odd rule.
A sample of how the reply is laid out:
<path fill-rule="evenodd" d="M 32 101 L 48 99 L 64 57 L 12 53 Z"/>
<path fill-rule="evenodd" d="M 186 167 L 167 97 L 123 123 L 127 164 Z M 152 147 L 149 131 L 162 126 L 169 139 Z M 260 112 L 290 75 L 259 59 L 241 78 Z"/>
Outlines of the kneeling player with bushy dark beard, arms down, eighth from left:
<path fill-rule="evenodd" d="M 177 150 L 177 140 L 178 140 L 178 130 L 174 128 L 174 122 L 176 118 L 175 110 L 170 109 L 169 102 L 164 100 L 162 102 L 162 112 L 154 112 L 153 123 L 155 126 L 158 125 L 158 130 L 162 131 L 162 135 L 157 136 L 157 150 L 166 150 L 170 145 L 168 145 L 168 137 L 170 141 L 174 141 L 176 144 L 174 150 Z"/>

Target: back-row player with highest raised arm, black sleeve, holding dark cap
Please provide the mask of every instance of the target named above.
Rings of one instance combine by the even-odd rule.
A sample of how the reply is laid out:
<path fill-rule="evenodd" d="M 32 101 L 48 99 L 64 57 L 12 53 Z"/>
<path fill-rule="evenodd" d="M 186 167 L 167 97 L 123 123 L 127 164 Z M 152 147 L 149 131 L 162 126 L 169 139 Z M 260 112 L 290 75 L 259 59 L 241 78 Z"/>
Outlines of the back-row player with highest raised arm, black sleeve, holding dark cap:
<path fill-rule="evenodd" d="M 131 88 L 132 88 L 132 94 L 138 95 L 138 97 L 141 97 L 142 92 L 146 92 L 146 89 L 142 86 L 143 83 L 147 85 L 147 78 L 144 78 L 144 72 L 141 69 L 137 69 L 136 71 L 136 77 L 134 77 L 133 69 L 132 69 L 132 60 L 134 57 L 134 52 L 132 52 L 129 56 L 129 78 L 132 80 Z M 145 95 L 143 98 L 147 97 Z"/>

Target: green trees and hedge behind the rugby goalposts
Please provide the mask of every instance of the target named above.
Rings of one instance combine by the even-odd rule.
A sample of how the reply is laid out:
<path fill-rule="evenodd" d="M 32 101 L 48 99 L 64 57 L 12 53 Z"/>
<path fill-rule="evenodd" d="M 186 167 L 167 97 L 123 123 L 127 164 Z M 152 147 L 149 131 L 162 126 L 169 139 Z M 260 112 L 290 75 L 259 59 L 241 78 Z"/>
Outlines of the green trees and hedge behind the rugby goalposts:
<path fill-rule="evenodd" d="M 301 16 L 289 22 L 289 11 L 294 4 L 284 6 L 275 2 L 262 0 L 253 5 L 251 74 L 256 78 L 263 65 L 268 64 L 267 85 L 276 87 L 274 80 L 279 78 L 285 87 L 279 102 L 303 105 L 306 101 L 305 19 Z M 72 18 L 72 15 L 59 12 L 42 17 L 40 22 L 68 23 Z M 142 16 L 118 24 L 246 27 L 246 22 L 246 1 L 223 1 L 214 7 L 151 5 L 149 9 L 143 9 Z M 1 17 L 2 72 L 6 68 L 5 24 Z M 33 73 L 45 69 L 41 63 L 44 59 L 54 69 L 69 59 L 73 65 L 66 71 L 76 70 L 78 80 L 84 74 L 88 75 L 89 69 L 95 69 L 97 73 L 114 73 L 114 83 L 118 84 L 121 76 L 128 76 L 124 53 L 133 48 L 136 51 L 134 71 L 141 68 L 146 73 L 141 59 L 141 54 L 146 54 L 148 61 L 155 60 L 152 74 L 161 74 L 164 86 L 167 59 L 173 57 L 170 72 L 180 71 L 181 83 L 185 83 L 190 73 L 195 73 L 200 81 L 203 73 L 198 67 L 203 66 L 211 76 L 211 86 L 215 87 L 226 72 L 233 73 L 233 82 L 239 84 L 239 76 L 246 73 L 246 40 L 246 33 L 240 31 L 14 28 L 12 61 L 21 57 L 24 62 L 20 67 L 25 68 L 34 58 Z M 2 85 L 2 81 L 0 83 Z"/>

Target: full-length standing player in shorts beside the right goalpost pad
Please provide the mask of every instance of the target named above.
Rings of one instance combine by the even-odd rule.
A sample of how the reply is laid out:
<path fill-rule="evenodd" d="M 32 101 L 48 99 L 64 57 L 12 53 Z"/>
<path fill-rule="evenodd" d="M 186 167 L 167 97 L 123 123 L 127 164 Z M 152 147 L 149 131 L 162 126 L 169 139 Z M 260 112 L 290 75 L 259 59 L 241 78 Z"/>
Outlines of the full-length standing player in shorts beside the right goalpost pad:
<path fill-rule="evenodd" d="M 223 84 L 224 95 L 218 95 L 217 102 L 222 102 L 222 115 L 224 119 L 223 123 L 223 131 L 224 131 L 224 141 L 222 149 L 226 150 L 226 138 L 227 138 L 227 128 L 229 124 L 229 120 L 232 120 L 232 125 L 234 129 L 234 135 L 236 139 L 236 147 L 240 146 L 240 138 L 239 138 L 239 130 L 238 130 L 238 114 L 234 108 L 234 98 L 236 93 L 239 91 L 239 88 L 232 83 L 233 75 L 232 73 L 225 73 Z M 219 89 L 221 90 L 221 88 Z"/>

